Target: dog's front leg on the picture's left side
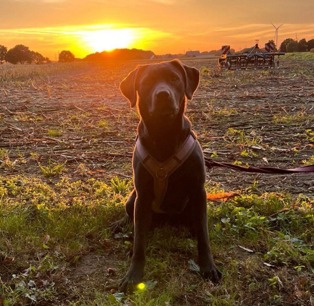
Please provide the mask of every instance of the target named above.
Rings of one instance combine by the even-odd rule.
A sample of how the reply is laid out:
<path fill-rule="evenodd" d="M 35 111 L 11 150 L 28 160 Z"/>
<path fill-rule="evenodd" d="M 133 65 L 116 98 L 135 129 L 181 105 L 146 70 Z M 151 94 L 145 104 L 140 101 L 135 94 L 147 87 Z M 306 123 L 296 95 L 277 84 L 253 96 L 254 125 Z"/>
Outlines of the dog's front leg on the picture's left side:
<path fill-rule="evenodd" d="M 147 198 L 146 198 L 147 199 Z M 145 247 L 152 219 L 151 205 L 137 197 L 134 208 L 134 244 L 131 265 L 119 285 L 120 292 L 132 293 L 142 281 L 145 264 Z"/>

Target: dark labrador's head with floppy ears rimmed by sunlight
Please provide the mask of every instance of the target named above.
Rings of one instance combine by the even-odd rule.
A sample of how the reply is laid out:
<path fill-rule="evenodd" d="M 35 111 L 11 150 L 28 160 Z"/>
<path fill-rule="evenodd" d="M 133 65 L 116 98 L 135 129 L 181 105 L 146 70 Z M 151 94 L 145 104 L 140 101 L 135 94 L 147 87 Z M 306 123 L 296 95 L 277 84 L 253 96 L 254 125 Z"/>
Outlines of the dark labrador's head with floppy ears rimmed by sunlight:
<path fill-rule="evenodd" d="M 141 115 L 173 117 L 185 97 L 192 99 L 199 76 L 199 70 L 177 60 L 141 65 L 121 82 L 120 90 L 131 108 L 138 101 Z"/>

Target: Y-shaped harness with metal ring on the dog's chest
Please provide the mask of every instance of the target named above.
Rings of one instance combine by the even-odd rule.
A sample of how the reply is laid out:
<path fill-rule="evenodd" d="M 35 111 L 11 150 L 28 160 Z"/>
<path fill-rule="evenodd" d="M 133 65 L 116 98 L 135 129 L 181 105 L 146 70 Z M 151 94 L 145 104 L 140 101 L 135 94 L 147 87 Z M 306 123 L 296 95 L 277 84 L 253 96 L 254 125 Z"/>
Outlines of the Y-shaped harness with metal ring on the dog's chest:
<path fill-rule="evenodd" d="M 154 178 L 154 200 L 152 203 L 152 209 L 154 212 L 164 213 L 164 211 L 160 209 L 160 205 L 167 191 L 168 178 L 191 155 L 195 144 L 196 137 L 191 131 L 180 149 L 171 158 L 167 159 L 165 162 L 159 162 L 149 155 L 140 142 L 139 138 L 137 138 L 135 143 L 135 153 L 137 154 L 145 169 Z"/>

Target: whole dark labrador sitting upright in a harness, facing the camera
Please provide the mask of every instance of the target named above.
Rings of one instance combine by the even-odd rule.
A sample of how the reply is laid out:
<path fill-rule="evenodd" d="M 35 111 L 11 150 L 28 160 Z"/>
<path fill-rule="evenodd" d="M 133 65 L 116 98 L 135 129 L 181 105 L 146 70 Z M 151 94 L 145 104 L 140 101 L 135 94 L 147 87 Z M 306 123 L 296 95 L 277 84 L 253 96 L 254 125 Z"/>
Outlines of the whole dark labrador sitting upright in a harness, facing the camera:
<path fill-rule="evenodd" d="M 199 70 L 177 60 L 140 65 L 121 82 L 120 90 L 140 114 L 133 153 L 134 190 L 116 222 L 134 220 L 131 265 L 119 289 L 133 292 L 142 281 L 145 245 L 150 225 L 159 216 L 189 220 L 198 241 L 200 272 L 217 282 L 208 238 L 205 169 L 202 149 L 184 115 L 192 99 Z"/>

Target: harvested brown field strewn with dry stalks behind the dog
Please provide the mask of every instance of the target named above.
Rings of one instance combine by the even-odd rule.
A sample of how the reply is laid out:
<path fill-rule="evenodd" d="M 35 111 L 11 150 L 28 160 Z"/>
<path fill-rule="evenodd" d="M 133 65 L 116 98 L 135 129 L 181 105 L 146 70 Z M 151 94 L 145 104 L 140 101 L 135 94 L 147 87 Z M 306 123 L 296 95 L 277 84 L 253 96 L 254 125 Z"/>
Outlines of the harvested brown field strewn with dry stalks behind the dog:
<path fill-rule="evenodd" d="M 283 59 L 279 70 L 269 72 L 218 72 L 216 61 L 185 61 L 210 70 L 203 72 L 193 100 L 187 103 L 187 115 L 205 154 L 244 165 L 294 168 L 304 161 L 313 163 L 313 61 Z M 66 161 L 73 180 L 82 175 L 131 178 L 138 116 L 118 87 L 136 65 L 133 61 L 82 64 L 49 78 L 2 82 L 1 147 L 10 151 L 14 163 L 2 165 L 3 173 L 40 175 L 38 163 L 46 165 L 51 159 L 58 164 Z M 51 129 L 56 136 L 48 132 Z M 254 180 L 261 192 L 311 195 L 314 190 L 309 174 L 245 174 L 216 168 L 209 179 L 228 191 Z"/>

